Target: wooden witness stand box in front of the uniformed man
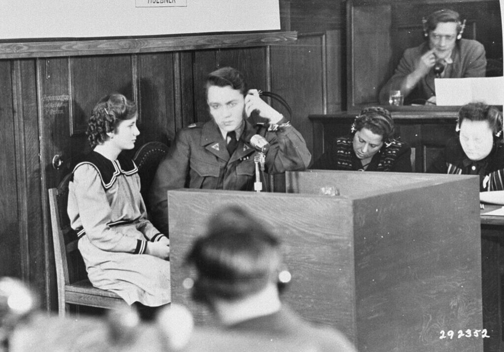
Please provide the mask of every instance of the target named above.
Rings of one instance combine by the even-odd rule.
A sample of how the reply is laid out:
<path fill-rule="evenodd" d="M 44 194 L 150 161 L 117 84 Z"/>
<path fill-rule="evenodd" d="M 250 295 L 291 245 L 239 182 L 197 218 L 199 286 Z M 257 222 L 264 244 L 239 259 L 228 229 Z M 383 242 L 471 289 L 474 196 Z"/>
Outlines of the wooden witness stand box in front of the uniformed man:
<path fill-rule="evenodd" d="M 306 171 L 287 173 L 290 193 L 168 191 L 172 302 L 209 321 L 183 288 L 184 256 L 212 214 L 239 204 L 282 240 L 292 273 L 284 301 L 305 319 L 340 329 L 360 351 L 480 351 L 482 338 L 472 336 L 483 328 L 477 183 Z M 468 329 L 471 337 L 458 337 Z"/>

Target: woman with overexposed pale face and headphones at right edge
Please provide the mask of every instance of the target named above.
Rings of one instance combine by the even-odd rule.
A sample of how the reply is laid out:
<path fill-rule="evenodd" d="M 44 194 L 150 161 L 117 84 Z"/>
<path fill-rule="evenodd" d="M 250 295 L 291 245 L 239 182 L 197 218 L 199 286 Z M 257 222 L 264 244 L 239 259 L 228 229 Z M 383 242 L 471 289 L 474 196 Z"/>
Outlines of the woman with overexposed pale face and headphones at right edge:
<path fill-rule="evenodd" d="M 448 141 L 427 172 L 479 175 L 481 192 L 504 190 L 502 113 L 482 102 L 466 104 L 459 110 L 456 131 L 459 135 Z"/>

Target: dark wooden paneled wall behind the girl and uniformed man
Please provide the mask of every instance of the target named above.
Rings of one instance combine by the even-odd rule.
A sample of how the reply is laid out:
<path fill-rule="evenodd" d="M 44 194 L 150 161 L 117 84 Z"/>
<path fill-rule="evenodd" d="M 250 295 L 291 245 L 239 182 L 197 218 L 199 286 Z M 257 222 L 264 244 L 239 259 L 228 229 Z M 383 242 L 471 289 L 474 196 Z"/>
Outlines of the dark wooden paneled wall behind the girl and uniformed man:
<path fill-rule="evenodd" d="M 341 108 L 341 66 L 334 66 L 341 35 L 341 29 L 305 33 L 278 46 L 0 59 L 0 276 L 29 281 L 45 306 L 54 307 L 47 189 L 89 151 L 86 121 L 99 98 L 116 91 L 138 102 L 136 149 L 151 140 L 169 144 L 180 128 L 209 118 L 205 76 L 230 65 L 245 74 L 249 88 L 290 103 L 291 122 L 311 149 L 308 115 Z M 56 155 L 63 161 L 58 170 Z"/>

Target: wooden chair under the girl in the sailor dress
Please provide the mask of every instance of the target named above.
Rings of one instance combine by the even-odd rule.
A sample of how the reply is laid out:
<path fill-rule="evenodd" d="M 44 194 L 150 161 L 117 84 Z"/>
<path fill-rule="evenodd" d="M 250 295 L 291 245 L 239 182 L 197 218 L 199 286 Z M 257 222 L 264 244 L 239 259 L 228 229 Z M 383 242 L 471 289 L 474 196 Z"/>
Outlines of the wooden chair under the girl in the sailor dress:
<path fill-rule="evenodd" d="M 77 233 L 67 214 L 70 177 L 68 174 L 57 188 L 49 189 L 59 316 L 65 316 L 70 304 L 108 309 L 126 304 L 115 293 L 93 287 L 88 279 L 77 248 Z"/>

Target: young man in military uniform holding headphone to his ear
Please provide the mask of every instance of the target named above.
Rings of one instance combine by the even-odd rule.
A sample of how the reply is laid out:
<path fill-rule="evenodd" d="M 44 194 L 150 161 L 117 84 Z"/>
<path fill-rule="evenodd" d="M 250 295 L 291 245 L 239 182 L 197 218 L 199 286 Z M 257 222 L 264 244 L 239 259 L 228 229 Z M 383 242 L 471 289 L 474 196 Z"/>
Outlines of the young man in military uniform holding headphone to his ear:
<path fill-rule="evenodd" d="M 268 174 L 303 170 L 311 160 L 301 134 L 257 90 L 247 90 L 236 69 L 223 67 L 209 74 L 206 92 L 212 120 L 177 133 L 151 186 L 151 217 L 163 233 L 168 233 L 169 189 L 253 189 L 257 151 L 250 138 L 256 134 L 270 145 L 264 163 Z M 269 122 L 251 125 L 247 117 L 253 111 Z"/>

